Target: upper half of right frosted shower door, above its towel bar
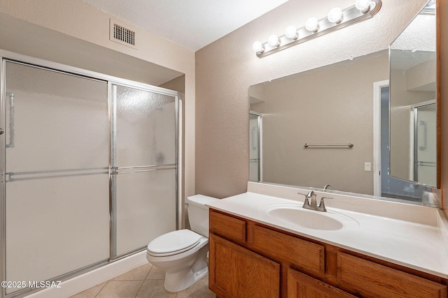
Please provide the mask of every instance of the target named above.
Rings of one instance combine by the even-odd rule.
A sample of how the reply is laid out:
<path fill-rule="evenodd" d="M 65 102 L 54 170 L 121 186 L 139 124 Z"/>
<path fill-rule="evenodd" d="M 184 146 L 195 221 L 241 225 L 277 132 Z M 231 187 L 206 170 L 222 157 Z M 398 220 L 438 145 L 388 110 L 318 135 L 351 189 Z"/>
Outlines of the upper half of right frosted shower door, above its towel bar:
<path fill-rule="evenodd" d="M 118 167 L 176 163 L 174 96 L 116 86 Z"/>

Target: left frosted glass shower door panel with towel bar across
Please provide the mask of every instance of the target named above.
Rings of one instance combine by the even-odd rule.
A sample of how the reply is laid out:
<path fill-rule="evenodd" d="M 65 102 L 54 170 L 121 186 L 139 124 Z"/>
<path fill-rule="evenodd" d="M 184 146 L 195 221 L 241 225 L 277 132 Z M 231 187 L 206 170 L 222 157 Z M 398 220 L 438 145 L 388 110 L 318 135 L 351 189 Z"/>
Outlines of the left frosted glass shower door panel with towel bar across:
<path fill-rule="evenodd" d="M 49 281 L 108 260 L 107 83 L 3 66 L 6 280 Z"/>

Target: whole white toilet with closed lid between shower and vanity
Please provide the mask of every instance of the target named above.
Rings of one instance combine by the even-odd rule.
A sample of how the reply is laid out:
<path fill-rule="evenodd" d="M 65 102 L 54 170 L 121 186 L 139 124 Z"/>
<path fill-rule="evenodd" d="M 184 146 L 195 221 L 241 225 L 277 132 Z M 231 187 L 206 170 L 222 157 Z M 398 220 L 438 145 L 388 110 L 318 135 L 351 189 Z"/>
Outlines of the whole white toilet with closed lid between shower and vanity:
<path fill-rule="evenodd" d="M 153 239 L 146 249 L 146 259 L 165 271 L 165 290 L 179 292 L 209 273 L 209 207 L 218 200 L 206 195 L 186 199 L 191 230 L 176 230 Z"/>

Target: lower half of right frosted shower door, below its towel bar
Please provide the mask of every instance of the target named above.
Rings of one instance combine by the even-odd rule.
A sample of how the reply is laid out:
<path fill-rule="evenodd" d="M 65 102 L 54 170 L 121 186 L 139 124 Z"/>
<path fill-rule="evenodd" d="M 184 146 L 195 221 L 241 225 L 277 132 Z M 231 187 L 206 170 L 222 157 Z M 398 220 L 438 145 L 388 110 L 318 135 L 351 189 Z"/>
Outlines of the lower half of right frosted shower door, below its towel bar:
<path fill-rule="evenodd" d="M 117 255 L 145 247 L 176 230 L 175 170 L 117 177 Z"/>

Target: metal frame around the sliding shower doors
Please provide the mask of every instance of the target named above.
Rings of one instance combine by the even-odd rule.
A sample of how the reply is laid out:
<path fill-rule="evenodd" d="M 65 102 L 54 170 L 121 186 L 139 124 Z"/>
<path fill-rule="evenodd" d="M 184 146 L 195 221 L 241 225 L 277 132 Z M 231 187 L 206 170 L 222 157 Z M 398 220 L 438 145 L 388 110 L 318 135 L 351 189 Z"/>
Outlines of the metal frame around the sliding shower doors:
<path fill-rule="evenodd" d="M 177 91 L 172 91 L 169 89 L 165 89 L 162 87 L 156 87 L 152 86 L 150 84 L 144 84 L 140 82 L 134 82 L 132 80 L 123 79 L 120 77 L 114 77 L 112 75 L 106 75 L 103 73 L 97 73 L 92 70 L 85 70 L 83 68 L 77 68 L 74 66 L 67 66 L 64 64 L 59 64 L 57 62 L 52 62 L 44 59 L 39 59 L 35 57 L 29 57 L 24 54 L 18 54 L 15 52 L 10 52 L 6 50 L 0 49 L 0 128 L 3 129 L 3 132 L 0 132 L 0 281 L 6 281 L 6 137 L 4 131 L 6 130 L 6 62 L 17 62 L 20 64 L 43 68 L 46 70 L 51 70 L 59 73 L 64 73 L 66 75 L 75 75 L 84 77 L 86 79 L 92 79 L 92 80 L 101 80 L 107 84 L 109 84 L 108 87 L 108 93 L 106 94 L 108 105 L 109 105 L 109 259 L 105 262 L 97 262 L 95 264 L 92 264 L 91 266 L 83 267 L 76 269 L 71 272 L 66 272 L 62 274 L 61 276 L 54 276 L 52 277 L 53 281 L 65 281 L 69 278 L 73 278 L 76 276 L 80 276 L 81 274 L 85 274 L 88 271 L 91 271 L 93 269 L 96 269 L 98 267 L 102 267 L 104 265 L 107 265 L 111 262 L 115 262 L 116 260 L 120 260 L 123 258 L 126 258 L 127 256 L 133 255 L 134 253 L 138 253 L 139 251 L 143 251 L 144 248 L 139 248 L 135 251 L 132 251 L 130 253 L 127 253 L 125 255 L 118 255 L 114 256 L 113 253 L 115 253 L 115 242 L 116 241 L 114 237 L 114 233 L 116 231 L 113 230 L 114 226 L 116 225 L 116 218 L 113 217 L 113 206 L 112 206 L 112 176 L 113 176 L 113 169 L 112 169 L 112 150 L 113 145 L 112 144 L 112 111 L 111 111 L 111 100 L 113 100 L 113 94 L 111 94 L 111 85 L 117 84 L 121 86 L 127 86 L 132 87 L 136 89 L 141 89 L 145 91 L 153 91 L 158 94 L 163 94 L 167 96 L 173 96 L 175 98 L 175 119 L 176 119 L 176 128 L 175 128 L 175 180 L 176 180 L 176 230 L 179 230 L 180 228 L 183 228 L 183 223 L 181 223 L 181 218 L 183 218 L 183 204 L 181 198 L 183 198 L 182 194 L 182 173 L 183 168 L 182 164 L 179 163 L 179 159 L 182 157 L 181 148 L 182 146 L 179 146 L 179 144 L 182 144 L 182 134 L 180 133 L 182 131 L 182 123 L 179 121 L 182 114 L 182 97 L 181 94 Z M 105 98 L 106 99 L 106 98 Z M 39 288 L 36 289 L 30 289 L 25 288 L 22 290 L 17 290 L 15 292 L 11 292 L 10 294 L 6 294 L 6 288 L 2 287 L 0 290 L 0 297 L 8 298 L 8 297 L 16 297 L 17 295 L 30 295 L 33 292 L 37 292 L 38 290 L 41 290 Z"/>

